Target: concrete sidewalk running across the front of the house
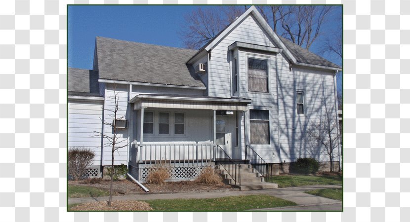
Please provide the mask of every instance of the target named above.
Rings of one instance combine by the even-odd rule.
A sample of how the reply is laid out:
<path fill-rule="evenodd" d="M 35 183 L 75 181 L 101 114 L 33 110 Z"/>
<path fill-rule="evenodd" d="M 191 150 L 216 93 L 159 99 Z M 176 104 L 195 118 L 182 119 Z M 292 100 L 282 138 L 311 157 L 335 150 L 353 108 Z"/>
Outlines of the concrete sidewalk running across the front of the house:
<path fill-rule="evenodd" d="M 301 187 L 286 187 L 275 189 L 260 189 L 260 190 L 247 190 L 247 191 L 211 191 L 211 192 L 186 192 L 186 193 L 140 193 L 125 196 L 113 196 L 113 200 L 155 200 L 155 199 L 201 199 L 201 198 L 218 198 L 226 196 L 241 196 L 251 194 L 266 194 L 275 197 L 279 197 L 285 200 L 295 202 L 299 206 L 293 207 L 297 211 L 298 207 L 302 206 L 321 206 L 321 205 L 334 205 L 334 210 L 342 210 L 341 201 L 328 199 L 325 197 L 315 196 L 305 193 L 307 190 L 323 189 L 323 188 L 341 188 L 339 185 L 309 185 Z M 108 200 L 109 197 L 87 197 L 87 198 L 69 198 L 68 204 L 85 203 L 92 201 Z M 336 204 L 336 205 L 335 205 Z M 302 206 L 300 206 L 302 205 Z M 323 207 L 322 207 L 323 208 Z M 267 209 L 285 211 L 285 208 L 280 209 Z M 261 209 L 259 209 L 261 210 Z M 318 210 L 320 210 L 318 208 Z"/>

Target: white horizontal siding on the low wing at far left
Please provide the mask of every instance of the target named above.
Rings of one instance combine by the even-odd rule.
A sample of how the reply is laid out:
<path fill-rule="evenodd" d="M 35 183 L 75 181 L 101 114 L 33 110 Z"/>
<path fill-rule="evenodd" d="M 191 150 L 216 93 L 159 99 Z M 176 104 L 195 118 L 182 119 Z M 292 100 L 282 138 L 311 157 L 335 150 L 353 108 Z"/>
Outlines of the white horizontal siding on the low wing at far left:
<path fill-rule="evenodd" d="M 68 148 L 84 147 L 94 151 L 93 165 L 101 165 L 102 101 L 69 100 Z"/>

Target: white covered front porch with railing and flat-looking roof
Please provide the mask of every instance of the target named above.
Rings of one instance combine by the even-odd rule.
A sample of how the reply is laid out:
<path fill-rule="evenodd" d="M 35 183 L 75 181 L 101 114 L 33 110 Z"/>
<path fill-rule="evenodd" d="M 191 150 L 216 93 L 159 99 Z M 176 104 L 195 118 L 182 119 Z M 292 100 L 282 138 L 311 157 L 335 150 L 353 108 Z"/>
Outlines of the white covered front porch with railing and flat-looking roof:
<path fill-rule="evenodd" d="M 218 148 L 242 159 L 244 111 L 251 101 L 197 96 L 138 95 L 129 127 L 129 172 L 144 182 L 151 170 L 166 168 L 170 180 L 193 180 L 214 166 Z M 219 145 L 219 146 L 218 146 Z"/>

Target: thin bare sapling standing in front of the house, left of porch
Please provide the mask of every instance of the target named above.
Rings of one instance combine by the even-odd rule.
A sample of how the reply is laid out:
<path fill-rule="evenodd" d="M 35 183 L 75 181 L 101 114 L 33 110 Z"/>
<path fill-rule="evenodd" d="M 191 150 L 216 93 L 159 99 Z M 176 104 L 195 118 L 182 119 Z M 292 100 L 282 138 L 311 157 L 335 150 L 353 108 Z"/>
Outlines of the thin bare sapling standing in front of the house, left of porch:
<path fill-rule="evenodd" d="M 120 148 L 124 148 L 128 145 L 128 143 L 125 143 L 127 139 L 122 139 L 120 136 L 120 132 L 122 129 L 119 129 L 117 127 L 117 121 L 122 120 L 125 118 L 125 115 L 119 115 L 120 108 L 118 106 L 118 91 L 117 91 L 117 85 L 114 83 L 114 96 L 108 97 L 112 100 L 114 100 L 114 109 L 104 109 L 104 111 L 108 112 L 108 116 L 113 118 L 113 121 L 107 121 L 102 119 L 102 123 L 104 125 L 110 126 L 112 128 L 112 134 L 109 133 L 101 133 L 94 131 L 99 137 L 103 137 L 104 139 L 107 140 L 107 142 L 104 144 L 104 147 L 110 147 L 111 148 L 111 183 L 110 183 L 110 198 L 108 200 L 108 206 L 111 207 L 111 200 L 113 197 L 113 180 L 114 180 L 114 152 L 117 151 Z"/>

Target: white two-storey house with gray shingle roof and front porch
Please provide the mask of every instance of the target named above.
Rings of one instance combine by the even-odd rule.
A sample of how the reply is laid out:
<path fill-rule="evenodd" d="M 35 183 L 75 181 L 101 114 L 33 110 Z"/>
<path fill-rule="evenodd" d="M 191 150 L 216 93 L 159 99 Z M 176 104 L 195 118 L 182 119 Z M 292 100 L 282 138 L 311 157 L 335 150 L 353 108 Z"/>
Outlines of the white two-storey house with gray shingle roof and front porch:
<path fill-rule="evenodd" d="M 117 96 L 127 146 L 115 164 L 139 181 L 159 162 L 173 179 L 221 159 L 294 162 L 310 157 L 310 124 L 325 110 L 337 121 L 338 71 L 276 35 L 254 6 L 200 50 L 96 37 L 93 69 L 68 68 L 68 147 L 94 150 L 91 176 L 111 165 L 111 148 L 95 132 L 112 133 L 101 120 L 113 122 Z"/>

